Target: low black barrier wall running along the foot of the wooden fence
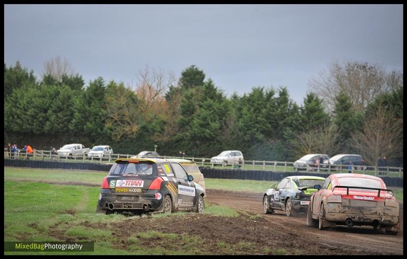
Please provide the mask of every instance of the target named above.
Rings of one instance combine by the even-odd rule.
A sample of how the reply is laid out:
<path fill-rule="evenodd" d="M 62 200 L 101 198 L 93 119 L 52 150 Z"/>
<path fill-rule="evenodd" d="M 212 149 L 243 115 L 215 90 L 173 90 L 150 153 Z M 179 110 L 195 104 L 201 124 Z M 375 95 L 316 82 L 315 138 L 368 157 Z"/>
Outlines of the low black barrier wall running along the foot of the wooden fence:
<path fill-rule="evenodd" d="M 33 168 L 55 168 L 55 169 L 76 169 L 76 170 L 96 170 L 109 171 L 112 164 L 101 163 L 70 163 L 56 161 L 39 161 L 39 160 L 19 160 L 4 159 L 5 166 L 33 167 Z M 265 170 L 242 170 L 242 169 L 215 169 L 209 167 L 200 167 L 205 178 L 217 179 L 240 179 L 240 180 L 257 180 L 257 181 L 280 181 L 287 176 L 304 175 L 296 172 L 282 171 L 265 171 Z M 328 174 L 321 172 L 309 172 L 309 176 L 327 177 Z M 381 176 L 387 186 L 403 186 L 403 179 L 398 177 Z"/>

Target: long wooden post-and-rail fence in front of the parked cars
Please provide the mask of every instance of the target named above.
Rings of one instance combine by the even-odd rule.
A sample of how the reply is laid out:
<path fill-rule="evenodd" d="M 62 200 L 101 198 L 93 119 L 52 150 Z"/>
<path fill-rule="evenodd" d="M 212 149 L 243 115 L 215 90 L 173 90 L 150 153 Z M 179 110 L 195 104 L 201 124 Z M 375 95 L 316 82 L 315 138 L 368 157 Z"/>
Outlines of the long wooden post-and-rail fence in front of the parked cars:
<path fill-rule="evenodd" d="M 41 160 L 41 161 L 56 161 L 56 162 L 81 162 L 81 163 L 113 163 L 115 159 L 131 158 L 135 155 L 131 154 L 108 154 L 100 157 L 90 156 L 89 154 L 81 154 L 77 156 L 61 156 L 58 153 L 46 150 L 34 150 L 33 154 L 27 154 L 18 150 L 17 153 L 9 153 L 7 149 L 4 151 L 5 159 L 15 160 Z M 243 160 L 240 163 L 223 163 L 215 164 L 210 158 L 204 157 L 176 157 L 176 156 L 159 156 L 157 158 L 179 158 L 195 161 L 199 167 L 213 169 L 241 169 L 241 170 L 264 170 L 264 171 L 282 171 L 295 172 L 301 171 L 305 173 L 321 172 L 325 174 L 334 174 L 348 172 L 349 165 L 346 164 L 317 164 L 317 165 L 296 165 L 294 162 L 287 161 L 261 161 L 261 160 Z M 403 167 L 378 167 L 369 165 L 354 165 L 351 168 L 352 172 L 358 174 L 366 174 L 373 176 L 388 176 L 403 178 Z"/>

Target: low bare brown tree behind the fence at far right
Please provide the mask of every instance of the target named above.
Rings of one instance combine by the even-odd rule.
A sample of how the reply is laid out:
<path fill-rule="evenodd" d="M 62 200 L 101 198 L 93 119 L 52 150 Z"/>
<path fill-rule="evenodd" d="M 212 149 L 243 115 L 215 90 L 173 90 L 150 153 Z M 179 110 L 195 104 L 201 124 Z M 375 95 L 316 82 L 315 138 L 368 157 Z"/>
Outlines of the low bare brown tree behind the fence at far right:
<path fill-rule="evenodd" d="M 388 160 L 399 157 L 403 150 L 402 125 L 402 119 L 397 119 L 391 111 L 379 105 L 364 121 L 362 131 L 353 134 L 352 146 L 371 165 L 377 165 L 380 155 Z"/>

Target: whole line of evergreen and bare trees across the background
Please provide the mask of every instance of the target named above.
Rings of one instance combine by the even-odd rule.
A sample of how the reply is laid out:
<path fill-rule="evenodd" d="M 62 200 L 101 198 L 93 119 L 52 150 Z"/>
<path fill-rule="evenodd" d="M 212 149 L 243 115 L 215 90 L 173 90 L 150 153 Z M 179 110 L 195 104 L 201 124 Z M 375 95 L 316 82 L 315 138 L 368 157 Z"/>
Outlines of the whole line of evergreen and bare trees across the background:
<path fill-rule="evenodd" d="M 247 160 L 268 161 L 356 153 L 369 164 L 380 155 L 402 164 L 402 73 L 377 65 L 333 63 L 310 80 L 301 105 L 286 87 L 227 97 L 194 65 L 178 79 L 146 66 L 135 85 L 102 77 L 85 84 L 61 67 L 36 78 L 19 62 L 4 64 L 5 145 L 46 150 L 75 142 L 121 154 L 157 145 L 163 155 L 195 157 L 240 150 Z"/>

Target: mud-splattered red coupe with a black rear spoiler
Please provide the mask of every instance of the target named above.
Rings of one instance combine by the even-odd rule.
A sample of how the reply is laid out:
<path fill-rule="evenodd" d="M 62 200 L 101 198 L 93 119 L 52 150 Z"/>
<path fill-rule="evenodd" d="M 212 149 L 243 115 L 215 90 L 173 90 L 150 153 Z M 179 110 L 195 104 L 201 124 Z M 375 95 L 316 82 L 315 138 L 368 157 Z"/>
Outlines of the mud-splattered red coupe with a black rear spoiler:
<path fill-rule="evenodd" d="M 307 225 L 325 229 L 335 225 L 370 225 L 397 235 L 399 204 L 393 191 L 375 176 L 330 175 L 311 197 Z"/>

